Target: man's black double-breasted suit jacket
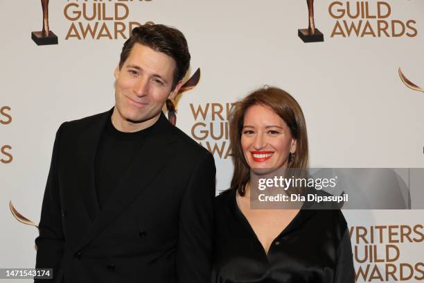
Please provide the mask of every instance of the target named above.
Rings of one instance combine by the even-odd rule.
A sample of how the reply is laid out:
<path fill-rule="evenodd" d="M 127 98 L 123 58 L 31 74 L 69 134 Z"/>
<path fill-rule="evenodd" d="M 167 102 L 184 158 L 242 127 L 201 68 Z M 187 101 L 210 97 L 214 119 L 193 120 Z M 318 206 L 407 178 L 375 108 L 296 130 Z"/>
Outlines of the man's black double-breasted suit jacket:
<path fill-rule="evenodd" d="M 210 282 L 213 156 L 161 113 L 100 210 L 94 162 L 110 114 L 56 134 L 36 267 L 54 268 L 53 282 Z"/>

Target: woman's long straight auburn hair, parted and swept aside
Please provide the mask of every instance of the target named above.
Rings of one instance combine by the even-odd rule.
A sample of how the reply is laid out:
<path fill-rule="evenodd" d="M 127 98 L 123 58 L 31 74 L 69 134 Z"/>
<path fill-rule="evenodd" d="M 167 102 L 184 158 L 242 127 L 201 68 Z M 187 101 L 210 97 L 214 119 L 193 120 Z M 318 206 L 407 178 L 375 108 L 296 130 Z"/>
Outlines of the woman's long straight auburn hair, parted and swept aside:
<path fill-rule="evenodd" d="M 236 187 L 240 196 L 245 195 L 245 186 L 249 182 L 250 168 L 241 147 L 241 135 L 245 113 L 253 105 L 270 108 L 283 119 L 290 128 L 290 133 L 297 141 L 296 152 L 288 162 L 288 168 L 308 169 L 308 135 L 305 117 L 299 103 L 283 89 L 278 87 L 261 87 L 248 96 L 237 101 L 230 114 L 230 141 L 234 171 L 231 187 Z"/>

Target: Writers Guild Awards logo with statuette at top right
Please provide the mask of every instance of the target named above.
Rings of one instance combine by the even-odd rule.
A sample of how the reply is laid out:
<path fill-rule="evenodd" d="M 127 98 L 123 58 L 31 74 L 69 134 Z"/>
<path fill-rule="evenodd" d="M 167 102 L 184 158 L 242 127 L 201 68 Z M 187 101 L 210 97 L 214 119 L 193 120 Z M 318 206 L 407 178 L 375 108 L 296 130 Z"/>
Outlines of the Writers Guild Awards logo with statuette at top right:
<path fill-rule="evenodd" d="M 324 35 L 315 27 L 314 0 L 307 0 L 308 28 L 299 29 L 303 42 L 323 42 Z M 407 2 L 403 2 L 407 5 Z M 333 1 L 328 15 L 334 19 L 330 37 L 416 37 L 416 19 L 392 9 L 387 1 Z"/>

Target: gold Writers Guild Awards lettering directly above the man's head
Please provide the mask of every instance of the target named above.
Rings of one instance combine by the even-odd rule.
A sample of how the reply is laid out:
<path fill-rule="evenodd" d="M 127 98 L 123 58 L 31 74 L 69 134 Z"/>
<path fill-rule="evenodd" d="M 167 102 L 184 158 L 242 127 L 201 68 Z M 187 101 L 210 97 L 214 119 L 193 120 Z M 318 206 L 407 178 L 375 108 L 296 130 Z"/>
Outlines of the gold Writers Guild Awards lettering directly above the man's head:
<path fill-rule="evenodd" d="M 126 2 L 145 5 L 151 1 Z M 65 40 L 126 40 L 133 28 L 141 26 L 139 22 L 132 21 L 130 6 L 122 0 L 68 0 L 63 13 L 70 24 Z"/>

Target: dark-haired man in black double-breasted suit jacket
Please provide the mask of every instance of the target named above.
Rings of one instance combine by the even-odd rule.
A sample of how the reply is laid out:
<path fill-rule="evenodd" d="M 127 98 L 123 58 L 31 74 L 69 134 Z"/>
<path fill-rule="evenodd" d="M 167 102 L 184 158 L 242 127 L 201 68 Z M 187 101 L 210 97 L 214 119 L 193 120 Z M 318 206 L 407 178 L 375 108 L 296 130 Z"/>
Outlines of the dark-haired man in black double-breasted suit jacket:
<path fill-rule="evenodd" d="M 213 157 L 161 112 L 189 62 L 175 28 L 134 28 L 114 108 L 60 126 L 35 240 L 53 282 L 210 282 Z"/>

